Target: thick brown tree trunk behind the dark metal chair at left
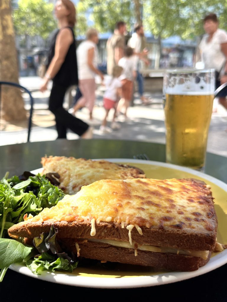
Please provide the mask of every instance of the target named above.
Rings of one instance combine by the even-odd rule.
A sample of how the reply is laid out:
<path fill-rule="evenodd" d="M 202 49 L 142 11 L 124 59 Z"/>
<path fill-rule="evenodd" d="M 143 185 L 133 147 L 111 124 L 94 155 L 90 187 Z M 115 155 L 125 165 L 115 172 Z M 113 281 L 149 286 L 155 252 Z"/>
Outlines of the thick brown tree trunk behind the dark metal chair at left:
<path fill-rule="evenodd" d="M 18 61 L 10 0 L 0 1 L 0 53 L 0 80 L 18 83 Z M 4 120 L 26 119 L 24 101 L 18 88 L 2 87 L 0 101 Z"/>

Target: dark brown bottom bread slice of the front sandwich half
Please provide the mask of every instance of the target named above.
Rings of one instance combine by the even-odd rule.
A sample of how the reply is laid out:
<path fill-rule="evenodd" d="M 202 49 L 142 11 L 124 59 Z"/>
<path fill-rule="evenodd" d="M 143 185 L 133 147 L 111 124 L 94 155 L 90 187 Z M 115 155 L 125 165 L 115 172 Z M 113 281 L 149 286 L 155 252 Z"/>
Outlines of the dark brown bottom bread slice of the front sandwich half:
<path fill-rule="evenodd" d="M 32 245 L 31 238 L 24 238 L 24 243 Z M 120 242 L 119 242 L 120 243 Z M 157 269 L 168 269 L 173 271 L 195 271 L 205 265 L 211 256 L 211 251 L 186 251 L 173 249 L 156 249 L 155 252 L 141 249 L 141 246 L 124 247 L 113 245 L 111 240 L 70 239 L 60 238 L 58 244 L 65 252 L 73 253 L 82 258 L 100 260 L 101 262 L 119 262 L 130 265 L 153 266 Z M 145 245 L 146 246 L 146 245 Z M 160 251 L 158 251 L 160 249 Z M 200 254 L 200 255 L 199 255 Z M 83 262 L 82 262 L 83 263 Z"/>

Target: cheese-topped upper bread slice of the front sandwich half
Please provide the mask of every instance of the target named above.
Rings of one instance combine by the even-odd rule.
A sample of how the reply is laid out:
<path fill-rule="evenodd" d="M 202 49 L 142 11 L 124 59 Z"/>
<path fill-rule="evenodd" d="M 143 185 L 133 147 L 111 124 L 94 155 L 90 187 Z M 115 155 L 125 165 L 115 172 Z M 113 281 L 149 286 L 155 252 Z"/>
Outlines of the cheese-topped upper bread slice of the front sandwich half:
<path fill-rule="evenodd" d="M 100 180 L 12 226 L 33 238 L 54 224 L 58 238 L 111 239 L 212 251 L 217 217 L 209 186 L 195 179 Z"/>

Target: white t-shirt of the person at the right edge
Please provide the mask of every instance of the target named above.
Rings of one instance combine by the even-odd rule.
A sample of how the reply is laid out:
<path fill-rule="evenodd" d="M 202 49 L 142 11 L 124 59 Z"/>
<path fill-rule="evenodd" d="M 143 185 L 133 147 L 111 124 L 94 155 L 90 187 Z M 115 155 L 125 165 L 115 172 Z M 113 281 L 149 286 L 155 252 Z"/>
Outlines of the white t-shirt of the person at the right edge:
<path fill-rule="evenodd" d="M 222 29 L 217 29 L 209 42 L 207 42 L 208 37 L 208 34 L 204 35 L 199 44 L 202 60 L 205 68 L 214 68 L 219 72 L 225 62 L 225 56 L 221 51 L 221 44 L 227 43 L 227 33 Z"/>

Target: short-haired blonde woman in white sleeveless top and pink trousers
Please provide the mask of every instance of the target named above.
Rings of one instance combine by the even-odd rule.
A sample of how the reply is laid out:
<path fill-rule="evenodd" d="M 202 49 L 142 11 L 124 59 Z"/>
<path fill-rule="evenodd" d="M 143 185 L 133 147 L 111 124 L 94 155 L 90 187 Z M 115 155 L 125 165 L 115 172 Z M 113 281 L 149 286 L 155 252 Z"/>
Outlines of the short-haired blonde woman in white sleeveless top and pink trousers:
<path fill-rule="evenodd" d="M 86 40 L 83 41 L 77 48 L 78 60 L 78 77 L 79 88 L 82 97 L 74 106 L 73 113 L 86 106 L 90 113 L 90 120 L 92 120 L 92 111 L 95 102 L 95 75 L 99 75 L 103 81 L 102 72 L 97 69 L 98 65 L 98 32 L 94 28 L 90 28 L 86 34 Z"/>

